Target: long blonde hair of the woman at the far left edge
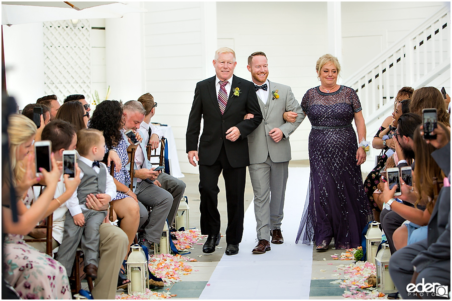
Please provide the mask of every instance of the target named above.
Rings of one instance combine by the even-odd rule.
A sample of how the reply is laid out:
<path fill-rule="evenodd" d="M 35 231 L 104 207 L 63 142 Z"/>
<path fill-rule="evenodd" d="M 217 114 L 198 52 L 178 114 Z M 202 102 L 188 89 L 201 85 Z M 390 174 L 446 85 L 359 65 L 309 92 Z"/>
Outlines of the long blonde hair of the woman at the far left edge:
<path fill-rule="evenodd" d="M 21 161 L 17 161 L 19 146 L 36 135 L 36 124 L 28 117 L 12 114 L 8 117 L 8 138 L 10 142 L 10 164 L 13 179 L 20 181 L 25 174 L 25 168 Z M 16 181 L 12 181 L 16 186 Z"/>

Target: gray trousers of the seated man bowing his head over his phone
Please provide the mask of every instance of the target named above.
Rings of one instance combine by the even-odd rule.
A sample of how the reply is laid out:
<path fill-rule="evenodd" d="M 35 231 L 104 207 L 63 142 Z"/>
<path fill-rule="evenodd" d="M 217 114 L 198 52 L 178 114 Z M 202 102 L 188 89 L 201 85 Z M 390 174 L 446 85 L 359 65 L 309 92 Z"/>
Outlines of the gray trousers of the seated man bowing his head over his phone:
<path fill-rule="evenodd" d="M 146 181 L 141 181 L 137 184 L 135 194 L 138 201 L 140 201 L 138 204 L 140 206 L 139 228 L 143 226 L 149 217 L 149 223 L 145 226 L 144 238 L 160 243 L 163 225 L 173 204 L 173 197 L 163 188 Z M 152 208 L 149 216 L 148 209 L 145 206 Z"/>

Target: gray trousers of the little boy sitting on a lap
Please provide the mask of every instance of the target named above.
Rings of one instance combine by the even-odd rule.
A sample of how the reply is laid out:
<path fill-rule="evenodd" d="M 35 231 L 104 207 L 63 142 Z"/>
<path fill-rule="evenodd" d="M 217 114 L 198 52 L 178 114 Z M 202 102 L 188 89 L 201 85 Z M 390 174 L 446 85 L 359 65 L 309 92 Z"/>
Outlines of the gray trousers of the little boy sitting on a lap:
<path fill-rule="evenodd" d="M 63 241 L 57 254 L 57 260 L 66 268 L 69 276 L 72 272 L 75 252 L 80 242 L 81 249 L 85 255 L 83 259 L 85 266 L 94 264 L 98 267 L 99 262 L 99 227 L 107 215 L 107 211 L 82 210 L 83 216 L 85 217 L 85 224 L 82 227 L 74 224 L 74 219 L 69 210 L 66 212 Z"/>

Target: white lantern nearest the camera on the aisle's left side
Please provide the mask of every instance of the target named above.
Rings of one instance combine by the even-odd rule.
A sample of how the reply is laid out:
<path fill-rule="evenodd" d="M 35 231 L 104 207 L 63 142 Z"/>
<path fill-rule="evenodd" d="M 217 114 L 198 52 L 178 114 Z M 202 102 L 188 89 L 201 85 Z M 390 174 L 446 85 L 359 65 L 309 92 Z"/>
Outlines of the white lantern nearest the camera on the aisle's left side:
<path fill-rule="evenodd" d="M 126 262 L 127 275 L 130 279 L 127 288 L 129 292 L 146 292 L 146 287 L 149 288 L 148 259 L 139 245 L 133 245 L 130 248 L 131 253 Z"/>

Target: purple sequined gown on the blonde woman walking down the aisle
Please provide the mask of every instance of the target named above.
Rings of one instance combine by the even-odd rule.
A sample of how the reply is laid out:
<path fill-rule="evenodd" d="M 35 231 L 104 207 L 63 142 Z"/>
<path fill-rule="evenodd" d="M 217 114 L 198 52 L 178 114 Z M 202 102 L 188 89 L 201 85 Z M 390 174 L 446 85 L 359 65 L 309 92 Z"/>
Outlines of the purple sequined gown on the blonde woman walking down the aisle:
<path fill-rule="evenodd" d="M 331 93 L 309 89 L 301 107 L 311 122 L 309 134 L 310 177 L 308 197 L 296 243 L 334 238 L 336 248 L 361 245 L 361 232 L 371 219 L 357 166 L 354 113 L 362 110 L 352 88 L 341 86 Z"/>

